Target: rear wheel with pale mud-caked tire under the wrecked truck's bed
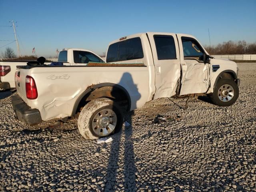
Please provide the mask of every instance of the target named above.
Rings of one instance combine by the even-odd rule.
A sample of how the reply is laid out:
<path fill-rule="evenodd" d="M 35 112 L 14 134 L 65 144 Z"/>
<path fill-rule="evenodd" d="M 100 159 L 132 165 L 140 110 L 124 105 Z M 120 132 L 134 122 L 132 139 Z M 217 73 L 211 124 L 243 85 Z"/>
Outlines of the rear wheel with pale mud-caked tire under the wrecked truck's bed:
<path fill-rule="evenodd" d="M 108 117 L 109 114 L 100 114 L 100 112 L 106 111 L 106 114 L 110 112 L 116 116 Z M 114 113 L 113 113 L 114 112 Z M 95 117 L 99 117 L 99 120 Z M 111 124 L 111 128 L 113 128 L 113 124 L 115 124 L 114 128 L 111 129 L 108 125 L 107 127 L 101 127 L 99 124 L 100 119 L 109 118 L 106 120 L 107 124 Z M 113 121 L 110 121 L 112 118 Z M 95 121 L 96 119 L 96 121 Z M 97 126 L 92 127 L 97 124 Z M 84 106 L 82 111 L 78 117 L 78 130 L 80 134 L 86 139 L 97 139 L 100 137 L 106 137 L 111 134 L 118 132 L 122 128 L 122 113 L 120 107 L 113 101 L 108 98 L 97 98 L 95 100 L 90 101 L 88 104 Z M 100 132 L 99 132 L 100 130 Z M 97 134 L 97 131 L 99 134 Z M 108 132 L 104 134 L 104 132 Z"/>

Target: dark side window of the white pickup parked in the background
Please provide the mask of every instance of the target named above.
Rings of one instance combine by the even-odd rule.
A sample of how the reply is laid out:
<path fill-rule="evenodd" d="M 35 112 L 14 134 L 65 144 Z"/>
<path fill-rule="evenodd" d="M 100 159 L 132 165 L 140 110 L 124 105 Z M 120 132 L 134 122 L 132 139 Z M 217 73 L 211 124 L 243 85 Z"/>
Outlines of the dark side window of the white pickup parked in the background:
<path fill-rule="evenodd" d="M 73 51 L 74 63 L 103 62 L 98 56 L 87 51 Z"/>

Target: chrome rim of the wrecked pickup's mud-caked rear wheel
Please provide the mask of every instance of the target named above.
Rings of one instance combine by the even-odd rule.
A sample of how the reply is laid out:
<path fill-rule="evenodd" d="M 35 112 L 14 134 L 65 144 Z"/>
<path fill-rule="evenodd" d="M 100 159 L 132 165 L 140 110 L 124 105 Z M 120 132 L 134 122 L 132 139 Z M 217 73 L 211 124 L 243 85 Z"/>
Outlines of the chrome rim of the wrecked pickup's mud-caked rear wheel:
<path fill-rule="evenodd" d="M 103 109 L 94 116 L 92 130 L 98 136 L 106 136 L 115 129 L 116 123 L 116 113 L 111 109 Z"/>

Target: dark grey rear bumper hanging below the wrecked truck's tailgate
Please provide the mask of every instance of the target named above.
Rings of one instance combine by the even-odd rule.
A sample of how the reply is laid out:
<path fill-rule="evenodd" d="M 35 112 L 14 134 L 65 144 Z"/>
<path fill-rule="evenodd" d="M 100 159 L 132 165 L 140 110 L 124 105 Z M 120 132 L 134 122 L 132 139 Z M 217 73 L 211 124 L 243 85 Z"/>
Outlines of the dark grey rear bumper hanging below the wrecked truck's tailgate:
<path fill-rule="evenodd" d="M 42 122 L 38 109 L 32 109 L 18 95 L 11 96 L 11 99 L 16 119 L 28 125 L 36 125 Z"/>

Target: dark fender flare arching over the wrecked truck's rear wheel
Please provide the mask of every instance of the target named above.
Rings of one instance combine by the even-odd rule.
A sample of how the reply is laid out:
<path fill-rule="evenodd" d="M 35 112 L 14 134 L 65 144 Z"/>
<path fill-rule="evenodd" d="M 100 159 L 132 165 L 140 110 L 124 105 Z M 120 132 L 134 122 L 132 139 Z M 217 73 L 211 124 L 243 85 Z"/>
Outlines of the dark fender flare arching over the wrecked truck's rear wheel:
<path fill-rule="evenodd" d="M 76 109 L 78 108 L 78 105 L 79 105 L 80 101 L 82 100 L 82 98 L 84 98 L 84 96 L 86 96 L 86 94 L 94 91 L 97 88 L 102 88 L 102 87 L 106 87 L 106 86 L 116 87 L 116 88 L 124 91 L 124 93 L 126 94 L 126 97 L 128 98 L 128 108 L 127 108 L 127 110 L 130 111 L 131 98 L 130 98 L 130 95 L 129 95 L 128 91 L 123 86 L 120 86 L 120 85 L 114 84 L 114 83 L 100 83 L 100 84 L 90 86 L 88 89 L 86 89 L 84 92 L 82 92 L 82 94 L 80 94 L 80 96 L 77 98 L 77 100 L 76 100 L 76 102 L 73 106 L 71 116 L 74 116 L 76 114 Z"/>

